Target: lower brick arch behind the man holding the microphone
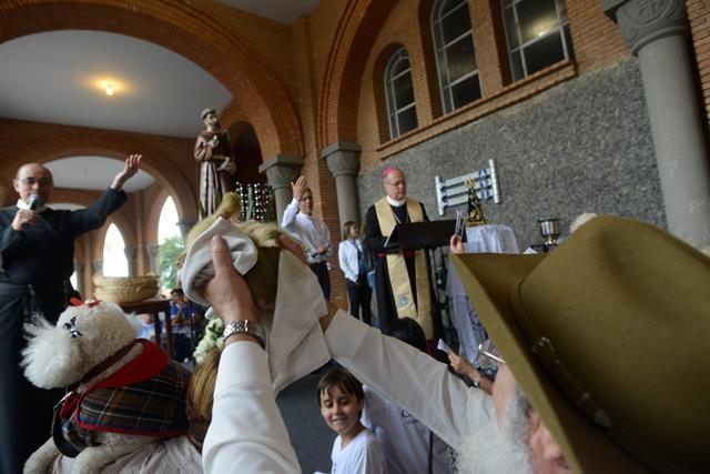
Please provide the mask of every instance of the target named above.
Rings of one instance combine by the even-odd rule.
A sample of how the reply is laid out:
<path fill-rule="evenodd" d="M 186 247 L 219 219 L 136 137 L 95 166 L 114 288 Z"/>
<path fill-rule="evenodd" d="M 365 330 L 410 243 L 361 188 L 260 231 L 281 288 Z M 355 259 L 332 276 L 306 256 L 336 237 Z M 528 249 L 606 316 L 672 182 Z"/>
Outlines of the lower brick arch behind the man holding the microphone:
<path fill-rule="evenodd" d="M 129 134 L 106 133 L 93 129 L 72 129 L 33 137 L 31 142 L 20 142 L 6 149 L 8 157 L 22 157 L 23 162 L 47 163 L 69 157 L 105 157 L 123 161 L 129 153 L 142 153 L 141 168 L 175 199 L 181 219 L 197 216 L 196 196 L 192 186 L 169 157 Z M 14 175 L 17 161 L 3 163 L 6 175 Z M 112 177 L 106 177 L 106 186 Z"/>

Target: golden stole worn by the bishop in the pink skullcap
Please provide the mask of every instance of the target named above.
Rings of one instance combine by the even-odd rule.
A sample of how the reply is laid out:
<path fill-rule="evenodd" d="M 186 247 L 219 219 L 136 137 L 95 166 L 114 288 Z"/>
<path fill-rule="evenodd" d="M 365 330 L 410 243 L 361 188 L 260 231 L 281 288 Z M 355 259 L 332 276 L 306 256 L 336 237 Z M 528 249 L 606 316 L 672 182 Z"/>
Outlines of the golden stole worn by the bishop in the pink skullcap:
<path fill-rule="evenodd" d="M 406 198 L 407 213 L 410 222 L 424 221 L 422 204 L 417 201 Z M 395 214 L 389 206 L 387 198 L 383 198 L 375 203 L 377 213 L 377 222 L 383 236 L 388 236 L 395 228 Z M 407 274 L 407 265 L 402 252 L 387 254 L 387 272 L 389 273 L 389 283 L 392 284 L 392 294 L 397 307 L 398 317 L 412 317 L 422 329 L 426 339 L 434 336 L 434 327 L 432 324 L 432 309 L 429 294 L 429 280 L 426 268 L 426 256 L 424 250 L 417 250 L 414 254 L 414 268 L 416 269 L 416 291 L 417 304 L 414 304 L 412 294 L 412 285 Z"/>

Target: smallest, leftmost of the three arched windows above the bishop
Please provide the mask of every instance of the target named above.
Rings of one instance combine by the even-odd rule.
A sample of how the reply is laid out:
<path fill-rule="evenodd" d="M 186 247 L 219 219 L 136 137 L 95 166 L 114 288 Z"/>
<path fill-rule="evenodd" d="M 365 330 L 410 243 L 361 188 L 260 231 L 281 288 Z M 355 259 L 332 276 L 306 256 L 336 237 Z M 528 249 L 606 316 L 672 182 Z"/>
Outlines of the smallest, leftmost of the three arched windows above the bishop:
<path fill-rule="evenodd" d="M 414 104 L 414 87 L 409 54 L 400 48 L 392 56 L 385 68 L 385 93 L 389 117 L 389 137 L 396 139 L 417 128 L 417 111 Z"/>

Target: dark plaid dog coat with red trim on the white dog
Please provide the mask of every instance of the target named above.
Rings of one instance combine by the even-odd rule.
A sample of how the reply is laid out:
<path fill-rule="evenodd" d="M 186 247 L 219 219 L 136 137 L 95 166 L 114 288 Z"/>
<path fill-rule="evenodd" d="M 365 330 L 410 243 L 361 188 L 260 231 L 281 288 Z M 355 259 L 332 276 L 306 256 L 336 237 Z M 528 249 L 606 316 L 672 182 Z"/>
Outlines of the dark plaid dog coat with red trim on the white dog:
<path fill-rule="evenodd" d="M 84 394 L 70 394 L 55 414 L 54 444 L 67 456 L 95 445 L 97 432 L 171 437 L 187 430 L 190 372 L 150 341 L 143 353 Z M 58 437 L 60 437 L 58 440 Z"/>

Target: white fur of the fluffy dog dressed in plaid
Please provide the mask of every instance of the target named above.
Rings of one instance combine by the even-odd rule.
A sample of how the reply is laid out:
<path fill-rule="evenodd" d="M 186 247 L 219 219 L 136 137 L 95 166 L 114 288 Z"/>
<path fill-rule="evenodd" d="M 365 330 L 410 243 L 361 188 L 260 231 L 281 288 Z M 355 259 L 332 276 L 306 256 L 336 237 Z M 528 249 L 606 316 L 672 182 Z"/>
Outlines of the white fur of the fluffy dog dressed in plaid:
<path fill-rule="evenodd" d="M 64 329 L 72 317 L 81 336 L 72 337 Z M 42 389 L 64 387 L 77 383 L 95 365 L 130 344 L 138 333 L 139 322 L 134 315 L 125 314 L 115 303 L 102 302 L 70 306 L 60 316 L 57 325 L 36 316 L 26 324 L 28 346 L 22 351 L 24 375 Z M 138 344 L 111 367 L 93 380 L 82 382 L 77 389 L 83 393 L 95 382 L 113 374 L 140 355 L 143 347 Z M 85 447 L 74 460 L 72 473 L 98 473 L 103 466 L 120 456 L 158 440 L 119 433 L 98 433 L 98 446 Z M 24 473 L 47 473 L 61 453 L 50 436 L 24 464 Z"/>

